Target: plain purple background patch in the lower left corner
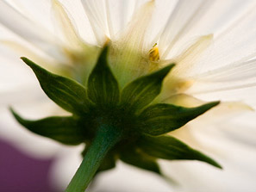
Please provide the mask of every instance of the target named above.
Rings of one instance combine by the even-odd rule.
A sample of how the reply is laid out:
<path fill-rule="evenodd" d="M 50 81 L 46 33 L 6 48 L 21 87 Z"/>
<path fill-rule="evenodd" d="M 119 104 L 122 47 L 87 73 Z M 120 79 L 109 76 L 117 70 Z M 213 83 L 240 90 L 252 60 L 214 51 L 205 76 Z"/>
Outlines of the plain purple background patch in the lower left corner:
<path fill-rule="evenodd" d="M 28 157 L 0 139 L 0 191 L 57 192 L 49 183 L 53 159 Z"/>

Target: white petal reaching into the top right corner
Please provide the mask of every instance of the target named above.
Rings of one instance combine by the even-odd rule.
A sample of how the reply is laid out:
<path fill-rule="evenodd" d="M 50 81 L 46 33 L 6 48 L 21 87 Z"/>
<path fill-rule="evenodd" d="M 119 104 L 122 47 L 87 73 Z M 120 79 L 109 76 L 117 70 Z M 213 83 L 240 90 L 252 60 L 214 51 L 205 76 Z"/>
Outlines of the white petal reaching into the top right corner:
<path fill-rule="evenodd" d="M 216 36 L 222 33 L 232 22 L 252 8 L 253 4 L 255 2 L 250 0 L 214 0 L 209 2 L 209 4 L 206 4 L 206 9 L 201 10 L 203 15 L 194 21 L 192 25 L 185 27 L 185 33 L 178 39 L 172 52 L 175 52 L 176 47 L 183 46 L 187 41 L 190 41 L 191 38 L 204 34 L 214 34 Z M 172 52 L 171 55 L 173 54 Z"/>

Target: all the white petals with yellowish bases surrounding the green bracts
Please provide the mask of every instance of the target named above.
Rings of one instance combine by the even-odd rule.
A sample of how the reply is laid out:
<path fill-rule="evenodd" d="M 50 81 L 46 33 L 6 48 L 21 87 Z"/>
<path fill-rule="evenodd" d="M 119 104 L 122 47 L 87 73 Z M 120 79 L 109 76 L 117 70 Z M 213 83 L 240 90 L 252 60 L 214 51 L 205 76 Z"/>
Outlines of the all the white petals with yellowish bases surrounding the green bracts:
<path fill-rule="evenodd" d="M 79 73 L 84 72 L 83 77 L 88 77 L 100 47 L 110 40 L 109 62 L 122 86 L 135 77 L 174 62 L 177 66 L 172 76 L 165 79 L 159 101 L 184 106 L 198 105 L 201 100 L 223 102 L 208 115 L 172 133 L 191 146 L 211 154 L 224 167 L 224 170 L 215 170 L 202 163 L 162 162 L 164 172 L 182 184 L 179 191 L 256 190 L 256 168 L 253 165 L 256 159 L 253 136 L 256 132 L 256 123 L 253 122 L 255 114 L 246 113 L 256 107 L 256 2 L 60 2 L 0 2 L 0 23 L 3 24 L 0 26 L 0 48 L 3 50 L 0 53 L 3 65 L 1 82 L 4 82 L 0 88 L 3 106 L 11 103 L 31 116 L 34 112 L 49 115 L 48 108 L 53 108 L 53 114 L 63 113 L 60 109 L 56 111 L 55 105 L 42 96 L 38 84 L 34 84 L 35 78 L 28 76 L 30 71 L 16 58 L 28 57 L 49 70 L 83 83 L 85 79 L 79 78 Z M 7 46 L 16 51 L 17 56 L 9 53 Z M 30 106 L 37 108 L 32 110 Z M 28 107 L 32 111 L 25 111 L 29 110 Z M 1 135 L 38 155 L 53 155 L 58 151 L 62 160 L 56 164 L 55 172 L 61 170 L 57 174 L 58 179 L 67 184 L 78 166 L 77 150 L 27 133 L 10 120 L 6 110 L 1 108 L 4 117 L 1 120 L 1 127 L 4 127 L 0 130 Z M 66 153 L 69 155 L 62 155 Z M 76 162 L 72 162 L 73 158 L 77 158 Z M 64 174 L 67 166 L 69 174 Z M 125 174 L 121 173 L 122 168 L 118 168 L 103 173 L 109 175 L 109 191 L 172 189 L 160 180 L 156 186 L 155 176 L 147 177 L 143 186 L 143 179 L 140 178 L 141 183 L 136 183 L 137 179 L 127 178 L 130 181 L 127 187 Z M 124 171 L 135 178 L 140 176 L 140 170 L 134 174 L 129 173 L 129 169 L 133 168 Z M 140 177 L 144 178 L 142 172 Z M 100 179 L 96 189 L 104 188 L 107 185 L 105 181 Z M 122 189 L 111 187 L 111 183 L 120 183 Z M 133 189 L 133 186 L 137 188 Z"/>

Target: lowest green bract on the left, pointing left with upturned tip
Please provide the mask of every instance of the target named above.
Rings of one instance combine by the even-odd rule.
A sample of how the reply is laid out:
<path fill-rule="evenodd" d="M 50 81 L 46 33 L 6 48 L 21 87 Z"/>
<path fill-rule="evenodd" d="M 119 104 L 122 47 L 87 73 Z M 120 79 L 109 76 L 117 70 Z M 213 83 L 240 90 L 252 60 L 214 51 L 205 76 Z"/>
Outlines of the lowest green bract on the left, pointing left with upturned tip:
<path fill-rule="evenodd" d="M 39 121 L 28 121 L 11 109 L 16 121 L 33 133 L 51 138 L 66 145 L 78 145 L 84 141 L 84 130 L 72 116 L 48 117 Z"/>

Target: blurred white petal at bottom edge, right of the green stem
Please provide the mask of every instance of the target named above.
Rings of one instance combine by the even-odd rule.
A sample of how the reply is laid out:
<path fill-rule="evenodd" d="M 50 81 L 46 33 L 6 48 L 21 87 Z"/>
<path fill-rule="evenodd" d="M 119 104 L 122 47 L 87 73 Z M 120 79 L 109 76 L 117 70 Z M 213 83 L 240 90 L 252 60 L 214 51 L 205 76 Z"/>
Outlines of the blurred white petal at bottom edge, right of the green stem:
<path fill-rule="evenodd" d="M 162 177 L 159 177 L 154 173 L 140 170 L 139 168 L 123 164 L 119 161 L 116 164 L 115 170 L 109 170 L 102 173 L 96 182 L 92 183 L 91 189 L 98 192 L 170 192 L 173 187 Z"/>

